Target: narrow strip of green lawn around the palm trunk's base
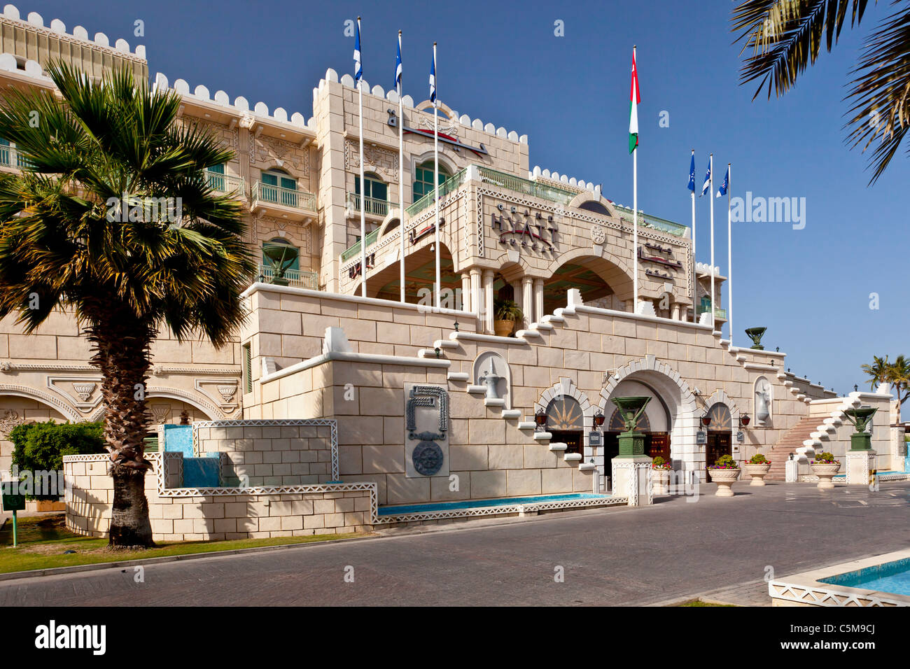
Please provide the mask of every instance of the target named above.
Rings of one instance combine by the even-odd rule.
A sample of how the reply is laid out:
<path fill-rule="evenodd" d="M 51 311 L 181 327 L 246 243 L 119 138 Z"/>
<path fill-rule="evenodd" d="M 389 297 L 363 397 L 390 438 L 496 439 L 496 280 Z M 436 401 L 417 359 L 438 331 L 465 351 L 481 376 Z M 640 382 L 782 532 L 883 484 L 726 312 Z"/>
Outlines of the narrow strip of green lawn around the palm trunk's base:
<path fill-rule="evenodd" d="M 235 551 L 259 546 L 325 542 L 354 536 L 363 534 L 318 534 L 306 537 L 235 539 L 221 542 L 159 542 L 157 548 L 146 551 L 111 551 L 107 548 L 106 539 L 92 539 L 69 532 L 63 513 L 25 516 L 18 519 L 19 545 L 16 548 L 13 548 L 13 521 L 6 521 L 0 529 L 0 573 L 71 567 L 78 564 L 116 563 L 197 552 Z M 65 551 L 75 552 L 65 555 Z"/>

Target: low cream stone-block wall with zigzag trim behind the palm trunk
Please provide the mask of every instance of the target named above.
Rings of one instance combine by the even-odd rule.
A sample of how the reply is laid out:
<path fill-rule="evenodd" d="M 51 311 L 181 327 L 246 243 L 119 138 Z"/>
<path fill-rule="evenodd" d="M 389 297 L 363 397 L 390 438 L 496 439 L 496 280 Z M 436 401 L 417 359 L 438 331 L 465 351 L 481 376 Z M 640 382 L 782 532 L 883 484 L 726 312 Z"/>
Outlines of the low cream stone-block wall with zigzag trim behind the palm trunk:
<path fill-rule="evenodd" d="M 155 541 L 209 541 L 369 532 L 376 492 L 369 484 L 268 488 L 167 489 L 157 476 L 161 454 L 148 456 L 155 473 L 146 476 L 148 514 Z M 66 527 L 104 537 L 110 529 L 113 480 L 106 455 L 64 458 Z"/>

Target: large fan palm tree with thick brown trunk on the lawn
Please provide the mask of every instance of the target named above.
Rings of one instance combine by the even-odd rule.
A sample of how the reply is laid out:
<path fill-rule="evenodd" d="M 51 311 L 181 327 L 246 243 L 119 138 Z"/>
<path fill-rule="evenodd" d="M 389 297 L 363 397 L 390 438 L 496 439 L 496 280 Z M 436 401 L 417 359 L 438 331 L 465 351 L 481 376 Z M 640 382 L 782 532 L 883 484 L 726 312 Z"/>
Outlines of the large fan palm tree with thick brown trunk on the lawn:
<path fill-rule="evenodd" d="M 243 318 L 253 274 L 237 202 L 203 168 L 231 158 L 177 123 L 180 98 L 126 71 L 95 81 L 49 67 L 59 91 L 6 90 L 0 136 L 25 158 L 0 177 L 0 318 L 26 333 L 72 312 L 101 372 L 114 479 L 111 546 L 151 546 L 143 454 L 150 348 L 177 340 L 221 347 Z M 169 207 L 158 208 L 174 198 Z"/>

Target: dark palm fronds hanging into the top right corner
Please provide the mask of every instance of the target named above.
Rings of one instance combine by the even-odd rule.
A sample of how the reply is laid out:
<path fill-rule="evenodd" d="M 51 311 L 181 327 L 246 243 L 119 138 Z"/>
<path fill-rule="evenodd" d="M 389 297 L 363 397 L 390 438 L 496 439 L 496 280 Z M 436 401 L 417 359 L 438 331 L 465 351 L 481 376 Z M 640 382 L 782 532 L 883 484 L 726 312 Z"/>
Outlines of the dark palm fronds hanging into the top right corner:
<path fill-rule="evenodd" d="M 823 44 L 837 44 L 847 16 L 858 26 L 867 0 L 745 0 L 733 10 L 733 32 L 752 50 L 740 82 L 759 80 L 753 99 L 765 86 L 783 96 L 807 65 L 814 65 Z M 863 53 L 851 70 L 847 142 L 863 151 L 878 138 L 869 162 L 870 185 L 882 175 L 910 129 L 910 6 L 886 15 L 866 36 Z"/>

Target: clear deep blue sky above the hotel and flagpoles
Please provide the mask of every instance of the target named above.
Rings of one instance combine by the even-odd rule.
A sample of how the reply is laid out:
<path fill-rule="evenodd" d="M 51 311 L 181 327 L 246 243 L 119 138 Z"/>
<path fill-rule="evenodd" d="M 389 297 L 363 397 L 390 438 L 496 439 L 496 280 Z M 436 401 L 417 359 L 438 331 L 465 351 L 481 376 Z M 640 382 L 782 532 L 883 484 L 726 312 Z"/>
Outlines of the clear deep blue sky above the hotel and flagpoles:
<path fill-rule="evenodd" d="M 806 225 L 740 223 L 733 229 L 734 343 L 767 326 L 763 343 L 789 355 L 800 375 L 844 393 L 867 388 L 860 364 L 873 354 L 910 355 L 907 331 L 907 198 L 910 161 L 899 155 L 867 188 L 866 158 L 844 146 L 845 83 L 861 37 L 887 5 L 870 5 L 864 26 L 844 30 L 834 53 L 795 90 L 752 101 L 739 86 L 733 2 L 349 3 L 219 2 L 17 3 L 67 30 L 84 25 L 113 44 L 144 44 L 149 69 L 190 87 L 246 96 L 288 115 L 312 114 L 312 88 L 327 67 L 352 71 L 344 21 L 363 17 L 363 67 L 370 85 L 393 81 L 395 42 L 404 31 L 406 93 L 427 97 L 432 42 L 439 42 L 440 99 L 471 118 L 527 134 L 531 167 L 602 183 L 632 204 L 628 154 L 632 44 L 638 46 L 639 206 L 689 225 L 689 157 L 696 179 L 714 153 L 715 185 L 733 163 L 733 194 L 806 199 Z M 456 7 L 459 8 L 458 11 Z M 145 36 L 133 35 L 136 19 Z M 554 22 L 565 36 L 554 35 Z M 670 127 L 659 127 L 662 111 Z M 906 148 L 906 147 L 905 147 Z M 726 211 L 715 200 L 715 254 L 727 272 Z M 696 202 L 698 256 L 707 261 L 707 197 Z M 880 309 L 869 309 L 878 293 Z M 724 298 L 725 299 L 725 298 Z M 723 306 L 726 306 L 724 304 Z M 726 332 L 724 331 L 724 336 Z"/>

